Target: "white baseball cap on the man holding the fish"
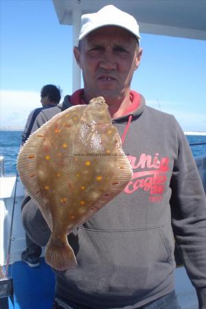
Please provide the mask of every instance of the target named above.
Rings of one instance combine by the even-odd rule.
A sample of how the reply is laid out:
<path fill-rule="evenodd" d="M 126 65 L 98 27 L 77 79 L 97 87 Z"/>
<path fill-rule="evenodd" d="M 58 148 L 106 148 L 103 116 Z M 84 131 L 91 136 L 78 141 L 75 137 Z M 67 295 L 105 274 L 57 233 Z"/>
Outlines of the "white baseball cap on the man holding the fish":
<path fill-rule="evenodd" d="M 79 40 L 82 40 L 82 38 L 90 32 L 93 32 L 93 30 L 107 25 L 122 27 L 134 34 L 138 41 L 141 39 L 139 25 L 132 15 L 119 10 L 114 5 L 106 5 L 96 13 L 82 15 Z"/>

